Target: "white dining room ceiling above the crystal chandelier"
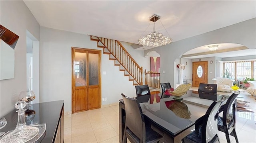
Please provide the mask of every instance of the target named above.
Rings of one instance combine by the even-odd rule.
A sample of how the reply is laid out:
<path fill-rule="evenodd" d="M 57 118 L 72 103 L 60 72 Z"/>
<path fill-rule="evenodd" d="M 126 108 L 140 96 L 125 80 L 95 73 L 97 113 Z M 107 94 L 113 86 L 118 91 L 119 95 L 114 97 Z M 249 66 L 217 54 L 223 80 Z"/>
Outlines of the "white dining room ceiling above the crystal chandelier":
<path fill-rule="evenodd" d="M 166 29 L 158 20 L 155 30 L 169 34 L 173 42 L 256 17 L 255 0 L 24 2 L 41 26 L 129 43 L 137 43 L 140 37 L 153 31 L 153 22 L 148 20 L 153 14 L 161 16 Z"/>

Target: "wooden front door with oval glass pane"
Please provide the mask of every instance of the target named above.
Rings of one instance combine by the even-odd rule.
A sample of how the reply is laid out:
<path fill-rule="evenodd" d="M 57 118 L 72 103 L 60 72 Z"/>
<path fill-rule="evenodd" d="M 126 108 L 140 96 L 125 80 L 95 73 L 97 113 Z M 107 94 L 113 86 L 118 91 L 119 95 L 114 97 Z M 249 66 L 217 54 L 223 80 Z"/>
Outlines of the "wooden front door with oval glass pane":
<path fill-rule="evenodd" d="M 192 62 L 192 66 L 192 86 L 199 87 L 200 83 L 207 83 L 208 61 Z"/>

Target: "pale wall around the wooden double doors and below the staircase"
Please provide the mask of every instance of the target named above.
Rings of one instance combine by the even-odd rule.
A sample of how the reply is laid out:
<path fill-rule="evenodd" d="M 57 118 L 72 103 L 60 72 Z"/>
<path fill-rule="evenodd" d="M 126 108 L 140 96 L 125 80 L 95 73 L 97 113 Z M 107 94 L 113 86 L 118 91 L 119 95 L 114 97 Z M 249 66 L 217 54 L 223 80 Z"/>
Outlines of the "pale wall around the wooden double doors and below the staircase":
<path fill-rule="evenodd" d="M 65 112 L 71 111 L 71 47 L 98 49 L 96 41 L 90 36 L 41 27 L 40 31 L 40 102 L 64 100 Z M 143 51 L 134 50 L 130 43 L 121 42 L 134 60 L 142 67 L 150 67 L 150 58 L 143 57 Z M 102 51 L 101 71 L 102 98 L 107 101 L 102 105 L 117 103 L 121 93 L 136 96 L 135 87 L 128 76 L 114 66 L 114 61 Z"/>

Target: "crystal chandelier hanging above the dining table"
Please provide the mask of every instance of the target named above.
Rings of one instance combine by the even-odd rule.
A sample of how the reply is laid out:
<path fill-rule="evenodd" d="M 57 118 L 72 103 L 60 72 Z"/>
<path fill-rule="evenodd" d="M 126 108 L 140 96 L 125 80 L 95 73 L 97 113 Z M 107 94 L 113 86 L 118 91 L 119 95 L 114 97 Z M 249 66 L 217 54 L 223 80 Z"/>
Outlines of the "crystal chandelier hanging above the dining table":
<path fill-rule="evenodd" d="M 155 22 L 157 20 L 159 20 L 160 18 L 161 17 L 156 15 L 156 14 L 154 14 L 153 16 L 151 16 L 149 18 L 150 21 L 154 22 L 153 32 L 151 32 L 150 34 L 146 35 L 145 37 L 142 37 L 142 38 L 138 39 L 138 44 L 143 45 L 143 46 L 148 46 L 148 47 L 156 48 L 156 47 L 160 47 L 162 45 L 166 45 L 166 44 L 172 43 L 172 38 L 166 37 L 162 33 L 159 33 L 159 32 L 155 31 Z M 162 22 L 161 22 L 161 24 L 162 24 Z M 162 26 L 164 27 L 163 24 L 162 24 Z M 166 31 L 166 29 L 165 29 L 165 31 Z"/>

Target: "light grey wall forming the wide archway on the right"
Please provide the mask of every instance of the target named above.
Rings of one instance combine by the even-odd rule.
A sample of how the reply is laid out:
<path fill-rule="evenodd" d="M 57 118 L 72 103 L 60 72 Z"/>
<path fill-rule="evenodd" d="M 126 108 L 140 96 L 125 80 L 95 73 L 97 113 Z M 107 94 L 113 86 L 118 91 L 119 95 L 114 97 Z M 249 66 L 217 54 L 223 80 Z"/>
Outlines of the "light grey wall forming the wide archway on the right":
<path fill-rule="evenodd" d="M 153 50 L 161 55 L 161 59 L 164 60 L 161 60 L 160 66 L 161 69 L 165 71 L 165 74 L 161 74 L 160 82 L 170 82 L 173 85 L 175 81 L 174 79 L 176 78 L 176 74 L 174 74 L 174 68 L 176 68 L 176 65 L 174 64 L 177 64 L 177 61 L 175 62 L 175 60 L 180 58 L 186 51 L 214 43 L 238 43 L 248 47 L 249 49 L 255 49 L 255 31 L 256 18 L 253 18 L 238 24 L 176 41 L 162 47 L 146 50 L 144 51 L 144 55 Z"/>

